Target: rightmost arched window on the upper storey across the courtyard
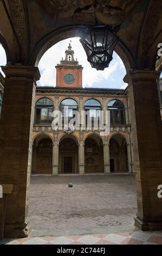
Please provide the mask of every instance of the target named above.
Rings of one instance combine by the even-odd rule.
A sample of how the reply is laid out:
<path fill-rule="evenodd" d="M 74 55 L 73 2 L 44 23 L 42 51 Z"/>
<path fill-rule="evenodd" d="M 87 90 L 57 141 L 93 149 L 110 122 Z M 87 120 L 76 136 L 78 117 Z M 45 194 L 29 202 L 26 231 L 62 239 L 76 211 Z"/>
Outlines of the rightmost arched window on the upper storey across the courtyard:
<path fill-rule="evenodd" d="M 125 107 L 120 100 L 109 101 L 108 110 L 110 111 L 110 122 L 112 125 L 126 124 Z"/>

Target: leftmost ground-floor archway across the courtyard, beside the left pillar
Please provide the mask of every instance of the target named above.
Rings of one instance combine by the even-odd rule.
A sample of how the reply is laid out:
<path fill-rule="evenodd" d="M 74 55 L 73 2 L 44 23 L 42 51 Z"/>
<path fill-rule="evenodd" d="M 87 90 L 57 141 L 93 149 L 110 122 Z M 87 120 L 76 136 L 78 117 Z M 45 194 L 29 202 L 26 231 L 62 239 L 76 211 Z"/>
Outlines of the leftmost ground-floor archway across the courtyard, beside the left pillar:
<path fill-rule="evenodd" d="M 31 173 L 52 174 L 53 141 L 48 135 L 39 135 L 33 143 L 33 159 Z"/>

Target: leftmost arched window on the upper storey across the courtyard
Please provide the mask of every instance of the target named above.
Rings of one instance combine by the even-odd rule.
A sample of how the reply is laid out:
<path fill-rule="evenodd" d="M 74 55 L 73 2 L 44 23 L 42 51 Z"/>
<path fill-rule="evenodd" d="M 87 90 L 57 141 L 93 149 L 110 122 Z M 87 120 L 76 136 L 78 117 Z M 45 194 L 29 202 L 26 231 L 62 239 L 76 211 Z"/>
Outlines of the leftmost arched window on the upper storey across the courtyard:
<path fill-rule="evenodd" d="M 42 98 L 36 102 L 35 123 L 51 124 L 54 103 L 48 98 Z"/>

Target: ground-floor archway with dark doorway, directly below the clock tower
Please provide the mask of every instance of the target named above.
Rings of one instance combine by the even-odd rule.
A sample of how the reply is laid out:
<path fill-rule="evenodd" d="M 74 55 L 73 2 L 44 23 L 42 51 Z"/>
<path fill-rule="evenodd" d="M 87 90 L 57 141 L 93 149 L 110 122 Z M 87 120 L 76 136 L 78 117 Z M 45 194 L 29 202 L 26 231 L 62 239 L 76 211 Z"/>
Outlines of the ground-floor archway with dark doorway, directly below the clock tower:
<path fill-rule="evenodd" d="M 59 173 L 78 173 L 79 150 L 72 136 L 65 136 L 59 144 Z"/>

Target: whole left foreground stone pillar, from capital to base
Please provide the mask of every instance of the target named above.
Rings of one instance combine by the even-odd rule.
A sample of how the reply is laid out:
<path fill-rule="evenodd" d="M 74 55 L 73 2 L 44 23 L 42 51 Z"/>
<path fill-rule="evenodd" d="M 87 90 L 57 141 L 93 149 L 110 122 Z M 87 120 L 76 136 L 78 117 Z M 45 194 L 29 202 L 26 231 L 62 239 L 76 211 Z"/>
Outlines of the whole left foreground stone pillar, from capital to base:
<path fill-rule="evenodd" d="M 1 184 L 13 184 L 8 196 L 5 237 L 25 237 L 29 233 L 28 205 L 32 133 L 38 68 L 8 65 L 5 74 L 0 125 Z M 0 220 L 2 200 L 0 199 Z"/>

